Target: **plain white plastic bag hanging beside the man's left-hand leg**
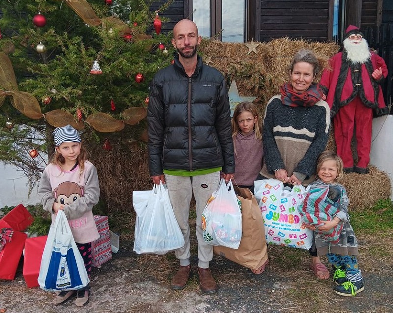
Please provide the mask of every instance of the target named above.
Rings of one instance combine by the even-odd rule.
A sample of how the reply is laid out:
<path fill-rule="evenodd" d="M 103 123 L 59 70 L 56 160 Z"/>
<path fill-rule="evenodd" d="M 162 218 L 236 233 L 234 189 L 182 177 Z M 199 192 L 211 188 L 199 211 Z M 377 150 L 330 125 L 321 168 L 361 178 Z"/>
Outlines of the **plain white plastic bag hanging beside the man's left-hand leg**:
<path fill-rule="evenodd" d="M 183 233 L 177 223 L 168 189 L 162 183 L 149 191 L 133 191 L 133 206 L 137 213 L 134 251 L 166 254 L 184 246 Z"/>

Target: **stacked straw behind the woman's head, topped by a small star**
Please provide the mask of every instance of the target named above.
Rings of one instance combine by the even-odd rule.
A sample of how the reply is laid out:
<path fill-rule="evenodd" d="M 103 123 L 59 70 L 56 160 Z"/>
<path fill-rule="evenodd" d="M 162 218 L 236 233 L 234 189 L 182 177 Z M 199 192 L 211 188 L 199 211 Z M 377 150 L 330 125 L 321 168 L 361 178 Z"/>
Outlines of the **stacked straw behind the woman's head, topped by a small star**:
<path fill-rule="evenodd" d="M 204 57 L 211 57 L 209 64 L 220 70 L 228 81 L 236 81 L 241 96 L 257 96 L 254 101 L 261 112 L 267 101 L 279 94 L 280 86 L 289 79 L 288 67 L 294 54 L 300 49 L 310 49 L 318 57 L 322 67 L 339 46 L 334 43 L 309 42 L 289 38 L 261 42 L 256 47 L 257 54 L 248 53 L 249 48 L 243 43 L 227 43 L 204 39 L 200 52 Z M 317 77 L 317 80 L 320 79 Z"/>

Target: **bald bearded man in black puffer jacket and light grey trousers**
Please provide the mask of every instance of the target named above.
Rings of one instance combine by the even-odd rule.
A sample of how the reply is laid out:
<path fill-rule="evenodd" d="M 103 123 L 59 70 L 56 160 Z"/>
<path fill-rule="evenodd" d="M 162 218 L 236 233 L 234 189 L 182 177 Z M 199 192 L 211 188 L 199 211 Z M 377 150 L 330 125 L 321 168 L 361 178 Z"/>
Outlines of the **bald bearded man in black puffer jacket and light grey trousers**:
<path fill-rule="evenodd" d="M 184 247 L 175 250 L 180 267 L 172 289 L 182 290 L 191 277 L 190 226 L 192 196 L 197 203 L 200 289 L 217 290 L 210 272 L 213 246 L 203 239 L 202 212 L 221 176 L 233 178 L 235 162 L 230 106 L 224 76 L 197 55 L 202 38 L 197 25 L 181 20 L 173 28 L 174 64 L 159 70 L 150 85 L 148 123 L 149 171 L 153 183 L 166 184 Z"/>

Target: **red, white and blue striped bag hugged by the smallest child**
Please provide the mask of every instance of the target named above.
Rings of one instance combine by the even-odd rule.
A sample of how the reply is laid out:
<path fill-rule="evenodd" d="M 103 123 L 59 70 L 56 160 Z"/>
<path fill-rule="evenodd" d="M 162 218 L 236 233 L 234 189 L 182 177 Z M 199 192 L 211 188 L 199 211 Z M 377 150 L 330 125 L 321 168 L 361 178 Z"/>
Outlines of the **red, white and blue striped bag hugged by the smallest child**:
<path fill-rule="evenodd" d="M 318 226 L 323 225 L 324 221 L 331 221 L 340 211 L 340 203 L 334 203 L 329 199 L 328 193 L 329 186 L 326 185 L 310 189 L 304 201 L 299 206 L 299 213 L 304 223 L 316 226 L 315 231 L 317 233 L 321 234 L 327 241 L 335 244 L 340 241 L 340 232 L 344 228 L 343 223 L 337 224 L 328 231 L 321 231 L 318 229 Z"/>

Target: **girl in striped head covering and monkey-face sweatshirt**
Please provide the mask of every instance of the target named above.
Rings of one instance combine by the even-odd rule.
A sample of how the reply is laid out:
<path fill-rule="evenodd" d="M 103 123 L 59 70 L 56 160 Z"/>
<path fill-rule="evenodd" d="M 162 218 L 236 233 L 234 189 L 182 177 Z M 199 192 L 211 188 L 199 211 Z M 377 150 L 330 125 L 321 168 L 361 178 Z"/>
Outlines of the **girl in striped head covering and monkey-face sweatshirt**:
<path fill-rule="evenodd" d="M 38 193 L 42 197 L 44 210 L 52 213 L 52 225 L 57 212 L 64 212 L 90 276 L 91 242 L 100 237 L 92 212 L 100 198 L 97 170 L 86 160 L 86 150 L 75 128 L 71 125 L 58 127 L 53 135 L 55 153 L 42 173 Z M 53 275 L 56 276 L 57 272 Z M 75 305 L 86 305 L 89 302 L 90 286 L 61 291 L 52 302 L 55 305 L 62 304 L 75 294 Z"/>

